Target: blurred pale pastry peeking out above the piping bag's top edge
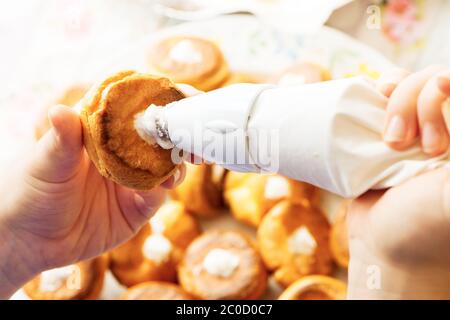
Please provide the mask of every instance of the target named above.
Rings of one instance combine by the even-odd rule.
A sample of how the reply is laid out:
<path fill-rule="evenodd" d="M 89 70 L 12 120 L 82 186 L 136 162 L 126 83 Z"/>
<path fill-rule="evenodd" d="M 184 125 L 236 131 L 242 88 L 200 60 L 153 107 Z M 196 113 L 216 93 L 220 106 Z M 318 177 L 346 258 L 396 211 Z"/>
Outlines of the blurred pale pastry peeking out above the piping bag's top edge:
<path fill-rule="evenodd" d="M 299 62 L 281 72 L 274 82 L 280 85 L 306 84 L 331 80 L 330 72 L 312 62 Z"/>

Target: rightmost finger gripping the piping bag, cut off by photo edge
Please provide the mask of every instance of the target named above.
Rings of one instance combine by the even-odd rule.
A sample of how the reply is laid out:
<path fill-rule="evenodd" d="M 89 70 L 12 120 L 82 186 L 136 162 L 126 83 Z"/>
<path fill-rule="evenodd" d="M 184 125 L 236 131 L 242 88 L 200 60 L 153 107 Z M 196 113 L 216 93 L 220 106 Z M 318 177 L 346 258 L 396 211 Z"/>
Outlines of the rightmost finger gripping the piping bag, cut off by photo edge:
<path fill-rule="evenodd" d="M 442 106 L 448 98 L 447 88 L 444 86 L 441 90 L 438 82 L 443 75 L 445 73 L 437 74 L 426 83 L 417 102 L 422 149 L 430 156 L 445 152 L 450 142 L 442 113 Z"/>

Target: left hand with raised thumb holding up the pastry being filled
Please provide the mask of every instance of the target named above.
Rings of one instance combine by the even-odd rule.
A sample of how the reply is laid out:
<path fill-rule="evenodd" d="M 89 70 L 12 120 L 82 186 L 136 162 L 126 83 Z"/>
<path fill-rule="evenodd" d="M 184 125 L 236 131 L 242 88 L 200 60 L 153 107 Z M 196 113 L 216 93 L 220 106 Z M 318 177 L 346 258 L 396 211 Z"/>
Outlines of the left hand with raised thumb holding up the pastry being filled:
<path fill-rule="evenodd" d="M 187 95 L 192 88 L 181 86 Z M 23 165 L 0 183 L 0 299 L 36 274 L 89 259 L 126 241 L 162 204 L 165 188 L 183 180 L 184 166 L 161 186 L 137 192 L 102 177 L 82 142 L 78 114 L 49 111 L 52 128 Z"/>

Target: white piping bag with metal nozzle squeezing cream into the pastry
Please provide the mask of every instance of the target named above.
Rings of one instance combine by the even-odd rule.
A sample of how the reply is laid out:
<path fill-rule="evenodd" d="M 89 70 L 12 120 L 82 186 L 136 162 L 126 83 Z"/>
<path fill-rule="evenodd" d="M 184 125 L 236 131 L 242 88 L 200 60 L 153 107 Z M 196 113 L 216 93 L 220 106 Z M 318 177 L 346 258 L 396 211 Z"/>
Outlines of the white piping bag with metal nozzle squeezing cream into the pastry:
<path fill-rule="evenodd" d="M 390 149 L 381 139 L 386 103 L 362 77 L 289 87 L 236 84 L 151 106 L 135 124 L 143 138 L 164 148 L 354 198 L 449 166 L 448 152 L 429 158 L 418 143 Z"/>

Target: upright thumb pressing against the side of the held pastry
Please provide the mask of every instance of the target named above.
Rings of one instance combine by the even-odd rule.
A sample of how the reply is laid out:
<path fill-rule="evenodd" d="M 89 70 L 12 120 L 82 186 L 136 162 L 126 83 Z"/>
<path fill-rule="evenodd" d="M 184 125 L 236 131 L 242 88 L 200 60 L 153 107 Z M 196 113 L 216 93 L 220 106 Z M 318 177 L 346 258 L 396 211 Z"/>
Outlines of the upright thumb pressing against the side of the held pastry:
<path fill-rule="evenodd" d="M 39 141 L 29 173 L 45 182 L 62 183 L 76 174 L 81 163 L 81 122 L 66 106 L 52 107 L 48 117 L 52 128 Z"/>

